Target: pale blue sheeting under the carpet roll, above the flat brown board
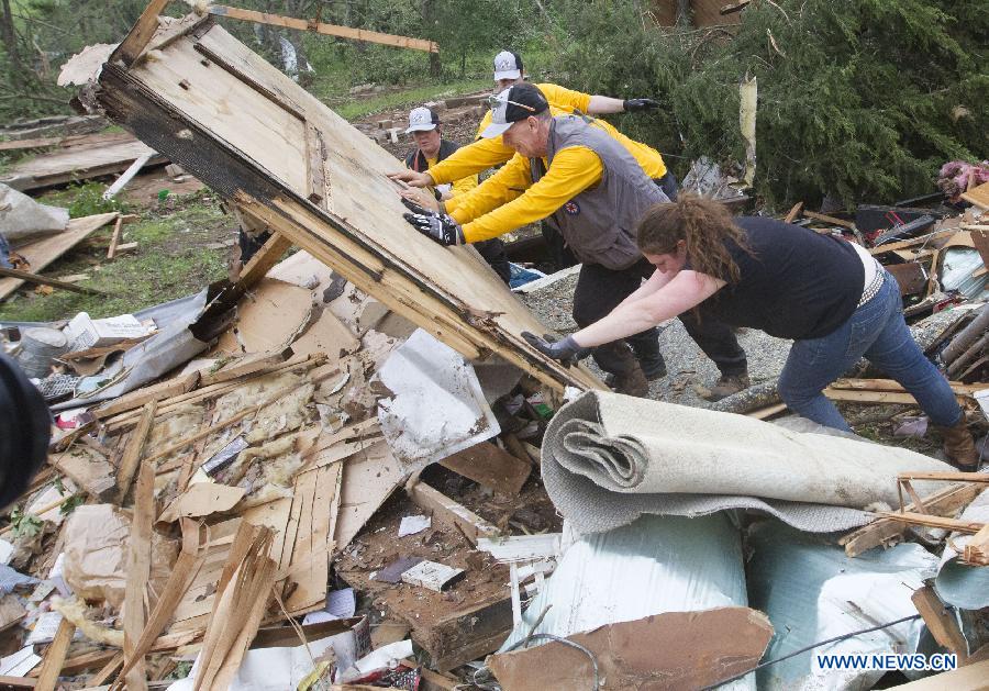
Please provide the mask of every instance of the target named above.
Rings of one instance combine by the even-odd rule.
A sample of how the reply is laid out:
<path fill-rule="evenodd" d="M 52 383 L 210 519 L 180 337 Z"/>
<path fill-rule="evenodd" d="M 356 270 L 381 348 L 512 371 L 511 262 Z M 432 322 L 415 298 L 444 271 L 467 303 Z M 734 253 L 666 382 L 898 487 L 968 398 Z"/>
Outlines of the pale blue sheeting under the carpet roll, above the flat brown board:
<path fill-rule="evenodd" d="M 727 514 L 646 515 L 574 542 L 500 651 L 525 638 L 544 610 L 535 633 L 565 637 L 651 614 L 746 604 L 741 535 Z M 754 689 L 746 680 L 725 688 Z"/>

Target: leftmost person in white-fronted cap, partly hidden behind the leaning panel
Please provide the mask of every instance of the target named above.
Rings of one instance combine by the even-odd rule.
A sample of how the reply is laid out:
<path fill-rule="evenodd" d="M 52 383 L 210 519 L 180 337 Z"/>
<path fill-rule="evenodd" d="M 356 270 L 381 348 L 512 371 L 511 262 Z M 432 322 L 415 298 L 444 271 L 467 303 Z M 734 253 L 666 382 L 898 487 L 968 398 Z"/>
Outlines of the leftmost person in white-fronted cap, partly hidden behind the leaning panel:
<path fill-rule="evenodd" d="M 409 113 L 409 127 L 405 130 L 405 134 L 412 135 L 416 147 L 405 156 L 405 165 L 410 170 L 429 170 L 459 148 L 456 142 L 444 140 L 441 130 L 440 115 L 435 111 L 424 105 L 412 109 Z M 458 194 L 469 192 L 475 187 L 477 187 L 477 174 L 454 180 L 452 185 L 437 185 L 435 188 L 436 199 L 451 200 Z M 511 279 L 511 267 L 504 253 L 504 243 L 492 238 L 479 242 L 475 247 L 488 265 L 494 269 L 498 277 L 508 283 Z"/>

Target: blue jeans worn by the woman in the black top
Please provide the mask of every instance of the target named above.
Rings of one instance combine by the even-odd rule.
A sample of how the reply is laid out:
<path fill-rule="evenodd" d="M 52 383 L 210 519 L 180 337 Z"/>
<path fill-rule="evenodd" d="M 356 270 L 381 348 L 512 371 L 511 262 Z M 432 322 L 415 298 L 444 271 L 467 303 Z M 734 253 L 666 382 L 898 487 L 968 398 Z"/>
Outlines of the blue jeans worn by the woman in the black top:
<path fill-rule="evenodd" d="M 779 376 L 779 395 L 799 415 L 851 432 L 821 391 L 865 356 L 912 393 L 932 423 L 954 426 L 962 420 L 955 394 L 907 327 L 897 280 L 888 271 L 879 292 L 837 330 L 793 342 Z"/>

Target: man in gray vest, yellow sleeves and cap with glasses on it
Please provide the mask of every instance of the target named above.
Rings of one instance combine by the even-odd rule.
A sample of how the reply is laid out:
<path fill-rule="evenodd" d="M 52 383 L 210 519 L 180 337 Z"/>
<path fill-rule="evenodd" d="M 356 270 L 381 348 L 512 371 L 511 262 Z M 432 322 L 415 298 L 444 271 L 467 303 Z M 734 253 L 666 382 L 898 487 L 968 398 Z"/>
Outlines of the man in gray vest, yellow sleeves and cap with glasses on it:
<path fill-rule="evenodd" d="M 405 219 L 444 245 L 476 243 L 547 219 L 584 265 L 574 293 L 574 321 L 584 326 L 608 314 L 652 276 L 638 252 L 635 229 L 653 204 L 668 201 L 663 190 L 607 130 L 578 115 L 553 118 L 538 88 L 519 83 L 492 99 L 492 121 L 482 136 L 501 135 L 516 153 L 498 172 L 459 198 L 449 215 L 405 200 Z M 726 325 L 681 317 L 688 333 L 736 390 L 747 383 L 745 353 Z M 636 343 L 636 338 L 641 343 Z M 666 374 L 655 332 L 627 338 L 636 353 L 649 353 Z M 623 342 L 593 349 L 594 360 L 613 375 L 614 389 L 646 395 L 645 372 Z M 640 359 L 643 359 L 640 356 Z M 744 378 L 744 380 L 743 380 Z M 715 387 L 716 388 L 716 387 Z M 723 387 L 722 387 L 723 388 Z"/>

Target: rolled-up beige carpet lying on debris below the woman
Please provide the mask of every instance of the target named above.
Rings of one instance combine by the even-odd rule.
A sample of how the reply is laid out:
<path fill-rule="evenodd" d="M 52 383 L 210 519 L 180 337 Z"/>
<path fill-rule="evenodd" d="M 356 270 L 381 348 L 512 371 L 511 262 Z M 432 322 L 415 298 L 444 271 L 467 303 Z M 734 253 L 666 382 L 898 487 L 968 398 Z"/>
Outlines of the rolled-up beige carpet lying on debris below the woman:
<path fill-rule="evenodd" d="M 952 467 L 743 415 L 588 391 L 549 423 L 542 470 L 549 498 L 578 533 L 609 531 L 648 513 L 726 509 L 754 509 L 830 533 L 868 523 L 871 514 L 859 509 L 873 502 L 896 504 L 898 472 Z"/>

